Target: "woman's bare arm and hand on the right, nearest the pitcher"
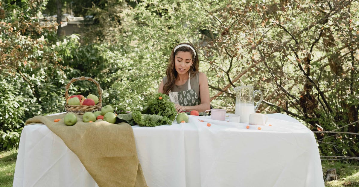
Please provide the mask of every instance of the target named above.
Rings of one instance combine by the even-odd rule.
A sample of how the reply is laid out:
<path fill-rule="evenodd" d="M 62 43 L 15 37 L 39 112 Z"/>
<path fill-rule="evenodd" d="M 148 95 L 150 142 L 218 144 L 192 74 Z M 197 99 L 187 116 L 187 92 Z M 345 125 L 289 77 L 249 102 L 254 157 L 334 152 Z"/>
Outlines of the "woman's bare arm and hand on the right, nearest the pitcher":
<path fill-rule="evenodd" d="M 206 74 L 202 72 L 199 72 L 199 86 L 200 86 L 201 104 L 196 106 L 176 105 L 176 111 L 178 113 L 186 110 L 197 110 L 199 112 L 204 112 L 205 110 L 209 110 L 211 108 L 208 80 Z"/>

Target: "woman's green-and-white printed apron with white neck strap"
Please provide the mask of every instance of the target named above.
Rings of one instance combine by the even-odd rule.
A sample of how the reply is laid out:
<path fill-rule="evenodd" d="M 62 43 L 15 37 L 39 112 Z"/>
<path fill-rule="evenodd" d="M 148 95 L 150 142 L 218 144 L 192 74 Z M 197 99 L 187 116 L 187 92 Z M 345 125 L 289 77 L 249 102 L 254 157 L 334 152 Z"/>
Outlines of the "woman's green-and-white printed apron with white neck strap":
<path fill-rule="evenodd" d="M 188 77 L 188 90 L 186 91 L 179 91 L 179 92 L 172 92 L 169 91 L 168 96 L 174 104 L 178 104 L 181 106 L 195 106 L 201 104 L 196 91 L 191 89 L 191 73 Z"/>

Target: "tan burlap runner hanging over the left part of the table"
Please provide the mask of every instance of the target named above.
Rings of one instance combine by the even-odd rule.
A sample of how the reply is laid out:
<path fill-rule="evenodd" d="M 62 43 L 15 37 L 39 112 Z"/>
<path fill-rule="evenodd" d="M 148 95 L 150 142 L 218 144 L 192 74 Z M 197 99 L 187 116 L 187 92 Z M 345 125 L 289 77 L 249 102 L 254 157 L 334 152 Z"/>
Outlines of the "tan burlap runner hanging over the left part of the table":
<path fill-rule="evenodd" d="M 147 186 L 129 124 L 84 123 L 82 115 L 75 115 L 78 120 L 73 126 L 65 125 L 65 114 L 35 116 L 25 125 L 45 124 L 79 157 L 100 187 Z M 61 120 L 54 122 L 55 119 Z"/>

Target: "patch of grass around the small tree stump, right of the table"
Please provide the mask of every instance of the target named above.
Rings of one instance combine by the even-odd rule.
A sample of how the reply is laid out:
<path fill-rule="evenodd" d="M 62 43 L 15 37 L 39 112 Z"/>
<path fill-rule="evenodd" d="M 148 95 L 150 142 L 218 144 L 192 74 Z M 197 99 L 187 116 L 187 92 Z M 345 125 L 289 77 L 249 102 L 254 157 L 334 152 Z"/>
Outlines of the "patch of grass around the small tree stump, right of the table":
<path fill-rule="evenodd" d="M 338 180 L 325 182 L 326 187 L 358 187 L 359 163 L 358 161 L 322 161 L 323 176 L 328 169 L 336 169 Z"/>

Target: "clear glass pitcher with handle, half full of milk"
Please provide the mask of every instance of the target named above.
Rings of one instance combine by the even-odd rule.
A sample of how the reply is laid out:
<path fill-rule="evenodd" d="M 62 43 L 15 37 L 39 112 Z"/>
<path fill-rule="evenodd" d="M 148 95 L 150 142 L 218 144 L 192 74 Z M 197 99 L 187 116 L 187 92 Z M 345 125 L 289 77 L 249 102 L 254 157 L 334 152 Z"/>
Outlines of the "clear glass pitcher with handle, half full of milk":
<path fill-rule="evenodd" d="M 253 86 L 238 86 L 234 88 L 234 91 L 236 91 L 236 110 L 234 113 L 240 116 L 240 123 L 248 122 L 249 115 L 256 113 L 261 104 L 263 94 L 260 90 L 253 91 Z M 259 92 L 261 99 L 254 106 L 254 95 L 256 92 Z"/>

